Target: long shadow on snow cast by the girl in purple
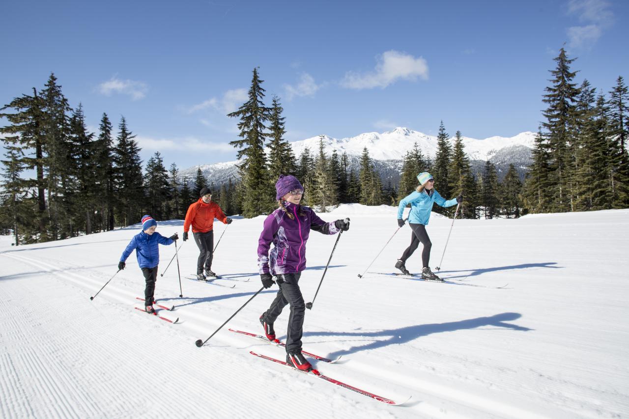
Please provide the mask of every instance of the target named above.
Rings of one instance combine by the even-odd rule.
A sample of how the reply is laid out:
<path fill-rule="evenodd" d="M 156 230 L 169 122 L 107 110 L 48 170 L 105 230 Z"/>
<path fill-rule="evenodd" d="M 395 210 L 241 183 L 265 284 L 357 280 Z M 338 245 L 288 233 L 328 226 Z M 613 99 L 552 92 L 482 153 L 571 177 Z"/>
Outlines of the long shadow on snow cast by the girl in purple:
<path fill-rule="evenodd" d="M 450 321 L 448 323 L 407 326 L 398 329 L 381 330 L 379 332 L 367 332 L 357 329 L 357 332 L 304 332 L 304 336 L 362 337 L 365 338 L 364 340 L 370 341 L 369 344 L 353 346 L 347 350 L 337 350 L 336 352 L 332 352 L 328 355 L 329 358 L 335 358 L 340 355 L 353 354 L 355 352 L 359 352 L 360 350 L 377 349 L 387 345 L 406 344 L 411 340 L 422 336 L 428 336 L 432 333 L 454 332 L 455 330 L 474 329 L 486 326 L 518 330 L 520 332 L 533 330 L 528 327 L 505 323 L 506 321 L 517 320 L 521 316 L 522 315 L 520 313 L 500 313 L 489 317 L 470 318 L 468 320 Z M 381 337 L 387 337 L 387 339 L 379 339 Z"/>

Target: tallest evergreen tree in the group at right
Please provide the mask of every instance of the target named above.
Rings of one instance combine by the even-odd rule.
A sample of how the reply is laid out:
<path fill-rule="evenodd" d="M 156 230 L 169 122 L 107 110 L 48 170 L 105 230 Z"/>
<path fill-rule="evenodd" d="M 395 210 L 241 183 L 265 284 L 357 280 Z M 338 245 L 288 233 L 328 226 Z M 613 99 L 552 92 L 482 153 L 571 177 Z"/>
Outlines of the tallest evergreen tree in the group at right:
<path fill-rule="evenodd" d="M 548 108 L 543 111 L 546 121 L 542 123 L 548 130 L 550 151 L 550 187 L 552 188 L 552 211 L 571 210 L 571 176 L 574 171 L 574 121 L 579 89 L 572 79 L 570 64 L 576 59 L 568 59 L 564 48 L 555 59 L 557 67 L 550 70 L 552 86 L 545 88 L 543 102 Z"/>

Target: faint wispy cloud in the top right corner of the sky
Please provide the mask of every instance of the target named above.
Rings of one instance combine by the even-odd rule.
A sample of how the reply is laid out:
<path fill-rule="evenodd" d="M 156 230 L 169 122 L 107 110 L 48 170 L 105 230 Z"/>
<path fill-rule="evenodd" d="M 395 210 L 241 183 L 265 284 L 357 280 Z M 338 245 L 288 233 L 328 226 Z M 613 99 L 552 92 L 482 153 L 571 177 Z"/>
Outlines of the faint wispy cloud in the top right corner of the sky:
<path fill-rule="evenodd" d="M 576 15 L 582 26 L 571 26 L 566 30 L 569 45 L 589 48 L 603 35 L 603 30 L 613 25 L 614 16 L 605 0 L 570 0 L 568 14 Z"/>

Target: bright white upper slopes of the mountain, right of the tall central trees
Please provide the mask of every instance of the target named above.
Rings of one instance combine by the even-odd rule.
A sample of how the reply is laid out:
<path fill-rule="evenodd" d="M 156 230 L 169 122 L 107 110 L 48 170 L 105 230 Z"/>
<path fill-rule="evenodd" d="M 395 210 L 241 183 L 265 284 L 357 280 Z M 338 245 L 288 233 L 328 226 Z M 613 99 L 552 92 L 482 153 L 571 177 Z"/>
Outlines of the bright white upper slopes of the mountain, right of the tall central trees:
<path fill-rule="evenodd" d="M 367 147 L 369 156 L 376 160 L 399 160 L 404 154 L 413 148 L 417 143 L 421 152 L 431 159 L 437 153 L 437 137 L 426 135 L 419 131 L 409 130 L 409 128 L 398 127 L 392 131 L 384 133 L 367 132 L 356 137 L 331 138 L 327 135 L 321 137 L 306 138 L 306 140 L 292 142 L 292 150 L 299 157 L 304 148 L 308 147 L 311 152 L 316 153 L 319 149 L 319 140 L 323 138 L 323 147 L 326 154 L 337 150 L 338 154 L 347 152 L 348 155 L 361 155 L 363 148 Z M 450 143 L 454 144 L 454 138 L 450 138 Z M 499 150 L 505 147 L 523 146 L 533 148 L 535 133 L 526 131 L 515 137 L 489 137 L 484 140 L 463 137 L 465 152 L 472 160 L 489 160 Z"/>

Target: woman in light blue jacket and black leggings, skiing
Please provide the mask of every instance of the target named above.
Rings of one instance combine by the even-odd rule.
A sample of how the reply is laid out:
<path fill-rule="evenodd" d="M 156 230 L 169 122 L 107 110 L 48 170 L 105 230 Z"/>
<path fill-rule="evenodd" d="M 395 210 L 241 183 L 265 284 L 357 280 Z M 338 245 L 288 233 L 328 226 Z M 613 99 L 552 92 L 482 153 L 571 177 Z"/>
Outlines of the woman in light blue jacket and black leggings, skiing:
<path fill-rule="evenodd" d="M 441 281 L 442 279 L 433 274 L 433 272 L 430 271 L 430 267 L 428 267 L 432 243 L 430 242 L 428 233 L 426 233 L 426 225 L 428 224 L 428 220 L 430 220 L 430 211 L 432 210 L 433 203 L 436 202 L 447 208 L 448 206 L 453 206 L 463 201 L 463 194 L 460 194 L 457 198 L 446 201 L 435 190 L 435 179 L 433 179 L 430 173 L 421 172 L 417 175 L 417 180 L 420 181 L 420 186 L 417 187 L 415 192 L 399 201 L 398 225 L 400 227 L 404 225 L 402 214 L 404 213 L 404 208 L 406 208 L 408 204 L 411 204 L 411 212 L 408 214 L 408 225 L 411 226 L 413 233 L 411 234 L 411 244 L 404 250 L 402 257 L 398 259 L 395 267 L 402 271 L 403 274 L 410 275 L 410 272 L 406 269 L 406 259 L 411 257 L 421 242 L 424 245 L 424 249 L 421 252 L 421 263 L 423 264 L 421 278 Z"/>

